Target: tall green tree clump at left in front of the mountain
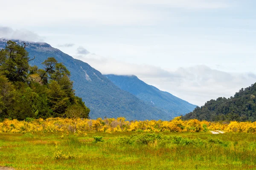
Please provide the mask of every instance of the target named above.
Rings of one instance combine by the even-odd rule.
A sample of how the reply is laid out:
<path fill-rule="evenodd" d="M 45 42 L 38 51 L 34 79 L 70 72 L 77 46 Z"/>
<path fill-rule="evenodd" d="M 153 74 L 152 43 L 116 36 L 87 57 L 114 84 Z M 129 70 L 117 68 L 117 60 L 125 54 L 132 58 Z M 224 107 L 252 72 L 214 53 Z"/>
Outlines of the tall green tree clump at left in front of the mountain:
<path fill-rule="evenodd" d="M 28 56 L 26 43 L 10 40 L 0 51 L 0 119 L 69 117 L 73 111 L 88 118 L 90 109 L 75 95 L 67 68 L 48 58 L 38 69 Z"/>

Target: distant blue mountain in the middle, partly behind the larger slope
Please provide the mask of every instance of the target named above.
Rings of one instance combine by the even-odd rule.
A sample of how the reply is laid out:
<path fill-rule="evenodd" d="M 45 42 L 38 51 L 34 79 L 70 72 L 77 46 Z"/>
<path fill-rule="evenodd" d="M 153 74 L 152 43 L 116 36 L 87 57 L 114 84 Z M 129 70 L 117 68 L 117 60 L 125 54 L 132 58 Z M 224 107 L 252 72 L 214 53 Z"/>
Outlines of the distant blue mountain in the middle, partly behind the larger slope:
<path fill-rule="evenodd" d="M 154 86 L 141 81 L 137 76 L 131 75 L 105 75 L 116 86 L 136 95 L 141 100 L 152 106 L 169 112 L 172 117 L 184 115 L 193 111 L 196 105 L 190 104 L 169 92 L 163 92 Z"/>

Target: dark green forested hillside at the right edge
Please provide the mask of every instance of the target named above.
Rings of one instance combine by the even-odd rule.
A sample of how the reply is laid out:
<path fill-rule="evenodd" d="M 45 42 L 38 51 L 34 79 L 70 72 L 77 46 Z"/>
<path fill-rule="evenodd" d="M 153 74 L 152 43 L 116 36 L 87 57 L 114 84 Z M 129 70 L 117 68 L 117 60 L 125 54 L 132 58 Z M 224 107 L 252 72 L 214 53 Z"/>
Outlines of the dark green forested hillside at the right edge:
<path fill-rule="evenodd" d="M 234 97 L 207 101 L 182 117 L 207 121 L 256 121 L 256 83 L 236 92 Z"/>

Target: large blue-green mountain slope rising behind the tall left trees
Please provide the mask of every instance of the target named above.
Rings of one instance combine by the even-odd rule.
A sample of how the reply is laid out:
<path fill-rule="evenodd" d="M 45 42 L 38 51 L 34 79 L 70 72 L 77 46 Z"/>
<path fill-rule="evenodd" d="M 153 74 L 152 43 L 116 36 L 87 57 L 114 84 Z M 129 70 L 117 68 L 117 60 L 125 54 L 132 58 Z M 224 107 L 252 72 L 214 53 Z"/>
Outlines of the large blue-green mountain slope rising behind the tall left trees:
<path fill-rule="evenodd" d="M 23 44 L 23 41 L 14 40 Z M 6 46 L 6 39 L 0 39 L 0 48 Z M 135 95 L 126 92 L 88 63 L 72 58 L 55 49 L 47 43 L 26 42 L 26 50 L 29 52 L 30 65 L 42 68 L 41 64 L 48 57 L 54 57 L 63 63 L 71 73 L 73 88 L 76 95 L 81 97 L 87 107 L 90 108 L 90 118 L 125 117 L 127 120 L 169 120 L 172 117 L 165 111 L 141 101 Z"/>

